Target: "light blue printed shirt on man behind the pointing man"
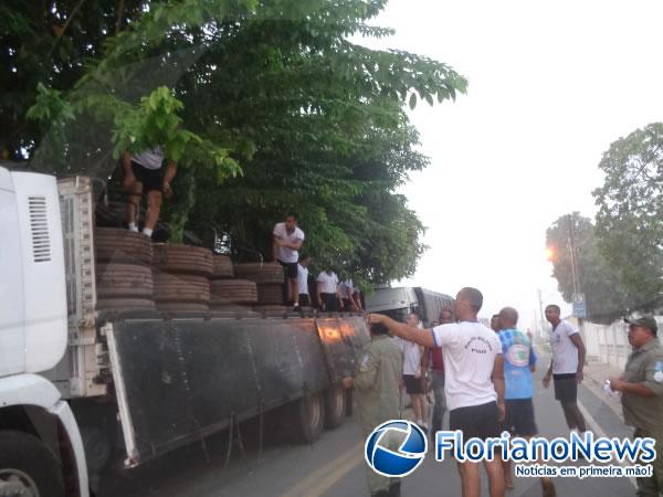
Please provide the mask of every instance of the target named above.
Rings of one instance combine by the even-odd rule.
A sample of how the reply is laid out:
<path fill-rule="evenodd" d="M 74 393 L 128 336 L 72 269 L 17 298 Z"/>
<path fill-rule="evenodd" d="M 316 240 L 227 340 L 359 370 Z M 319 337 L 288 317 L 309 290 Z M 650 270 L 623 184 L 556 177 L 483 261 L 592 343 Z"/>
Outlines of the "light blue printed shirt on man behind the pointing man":
<path fill-rule="evenodd" d="M 503 329 L 497 336 L 502 342 L 502 353 L 504 356 L 504 380 L 506 383 L 504 398 L 507 400 L 532 399 L 534 389 L 529 367 L 536 364 L 536 356 L 529 338 L 517 329 Z"/>

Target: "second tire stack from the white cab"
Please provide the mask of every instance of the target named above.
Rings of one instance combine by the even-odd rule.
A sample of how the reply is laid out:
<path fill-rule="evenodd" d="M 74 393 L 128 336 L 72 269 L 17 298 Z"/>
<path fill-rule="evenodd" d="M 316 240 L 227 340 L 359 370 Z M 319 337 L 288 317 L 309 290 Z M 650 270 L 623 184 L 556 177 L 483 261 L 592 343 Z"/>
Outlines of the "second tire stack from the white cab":
<path fill-rule="evenodd" d="M 209 310 L 212 252 L 191 245 L 155 244 L 154 296 L 158 310 Z"/>

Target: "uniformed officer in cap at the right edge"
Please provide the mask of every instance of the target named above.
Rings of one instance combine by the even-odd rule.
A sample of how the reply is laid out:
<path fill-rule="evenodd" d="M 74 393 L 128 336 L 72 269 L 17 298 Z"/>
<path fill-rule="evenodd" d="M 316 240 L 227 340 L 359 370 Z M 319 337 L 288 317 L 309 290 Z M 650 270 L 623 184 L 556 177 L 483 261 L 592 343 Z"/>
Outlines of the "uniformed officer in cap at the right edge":
<path fill-rule="evenodd" d="M 610 385 L 622 393 L 624 422 L 635 427 L 633 436 L 656 441 L 653 476 L 638 478 L 638 495 L 653 497 L 663 494 L 663 346 L 653 317 L 627 322 L 633 352 L 621 378 L 611 378 Z"/>

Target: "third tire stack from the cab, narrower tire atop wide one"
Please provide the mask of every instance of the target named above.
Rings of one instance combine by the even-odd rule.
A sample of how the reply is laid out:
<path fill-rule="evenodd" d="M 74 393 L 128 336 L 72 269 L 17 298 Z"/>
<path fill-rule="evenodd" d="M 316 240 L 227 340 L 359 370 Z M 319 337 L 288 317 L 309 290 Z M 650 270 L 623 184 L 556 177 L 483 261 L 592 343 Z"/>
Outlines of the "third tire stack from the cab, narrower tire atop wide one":
<path fill-rule="evenodd" d="M 257 304 L 257 287 L 249 279 L 231 279 L 233 267 L 230 257 L 213 256 L 214 274 L 210 282 L 211 310 L 239 310 L 242 306 Z"/>

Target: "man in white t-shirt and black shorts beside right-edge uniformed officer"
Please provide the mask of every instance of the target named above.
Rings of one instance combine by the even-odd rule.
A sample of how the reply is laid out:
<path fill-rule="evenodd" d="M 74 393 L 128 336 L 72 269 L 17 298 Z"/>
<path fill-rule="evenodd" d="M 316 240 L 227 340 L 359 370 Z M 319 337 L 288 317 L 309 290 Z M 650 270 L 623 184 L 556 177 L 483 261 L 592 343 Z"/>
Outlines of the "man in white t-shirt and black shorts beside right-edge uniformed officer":
<path fill-rule="evenodd" d="M 544 378 L 544 387 L 548 388 L 552 379 L 555 399 L 561 404 L 569 430 L 578 430 L 579 434 L 582 434 L 587 431 L 587 425 L 578 408 L 578 383 L 582 381 L 585 343 L 578 329 L 559 316 L 559 306 L 550 304 L 546 307 L 546 319 L 552 325 L 552 360 Z"/>

